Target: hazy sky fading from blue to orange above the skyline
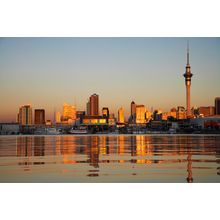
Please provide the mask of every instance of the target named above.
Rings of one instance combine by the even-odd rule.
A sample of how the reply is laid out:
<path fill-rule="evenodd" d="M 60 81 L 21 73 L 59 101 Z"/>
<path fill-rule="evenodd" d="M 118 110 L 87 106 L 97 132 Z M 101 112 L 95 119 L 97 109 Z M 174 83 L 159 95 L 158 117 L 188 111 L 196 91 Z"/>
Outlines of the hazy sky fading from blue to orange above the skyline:
<path fill-rule="evenodd" d="M 130 102 L 149 110 L 185 106 L 186 45 L 193 75 L 191 105 L 220 96 L 220 38 L 0 38 L 0 122 L 15 121 L 20 105 L 45 108 L 47 119 L 64 102 L 116 113 Z"/>

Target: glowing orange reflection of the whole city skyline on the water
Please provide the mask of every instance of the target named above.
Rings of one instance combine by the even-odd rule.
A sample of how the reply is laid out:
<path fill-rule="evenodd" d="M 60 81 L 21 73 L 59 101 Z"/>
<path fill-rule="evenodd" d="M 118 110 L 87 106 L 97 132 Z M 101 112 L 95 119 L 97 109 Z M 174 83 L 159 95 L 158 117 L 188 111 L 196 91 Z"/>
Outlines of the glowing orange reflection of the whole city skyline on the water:
<path fill-rule="evenodd" d="M 175 175 L 181 174 L 185 181 L 193 182 L 193 161 L 200 163 L 199 168 L 203 168 L 204 163 L 209 162 L 203 156 L 215 155 L 216 163 L 219 163 L 219 146 L 219 137 L 209 136 L 18 136 L 16 156 L 19 158 L 18 164 L 24 166 L 25 170 L 30 170 L 35 164 L 80 163 L 95 168 L 91 169 L 93 176 L 98 176 L 100 163 L 126 163 L 126 166 L 135 167 L 137 172 L 140 166 L 136 168 L 135 164 L 152 165 L 142 167 L 142 171 L 146 168 L 146 173 L 153 165 L 164 164 L 158 169 L 166 171 L 167 168 Z"/>

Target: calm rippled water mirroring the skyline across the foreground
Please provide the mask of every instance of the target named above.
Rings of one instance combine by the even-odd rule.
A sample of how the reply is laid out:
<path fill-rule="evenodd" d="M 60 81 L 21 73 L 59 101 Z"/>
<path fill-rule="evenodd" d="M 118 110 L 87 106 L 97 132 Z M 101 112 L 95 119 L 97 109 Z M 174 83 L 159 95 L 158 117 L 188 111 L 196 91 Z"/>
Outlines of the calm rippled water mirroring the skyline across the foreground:
<path fill-rule="evenodd" d="M 0 136 L 0 182 L 220 182 L 220 136 Z"/>

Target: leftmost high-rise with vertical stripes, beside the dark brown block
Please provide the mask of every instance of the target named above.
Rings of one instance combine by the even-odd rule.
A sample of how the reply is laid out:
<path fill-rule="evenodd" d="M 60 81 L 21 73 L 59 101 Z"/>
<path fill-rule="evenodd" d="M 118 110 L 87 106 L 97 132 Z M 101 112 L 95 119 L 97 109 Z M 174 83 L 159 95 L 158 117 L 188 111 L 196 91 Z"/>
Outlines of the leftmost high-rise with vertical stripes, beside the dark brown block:
<path fill-rule="evenodd" d="M 21 125 L 32 125 L 32 107 L 23 105 L 19 108 L 18 123 Z"/>

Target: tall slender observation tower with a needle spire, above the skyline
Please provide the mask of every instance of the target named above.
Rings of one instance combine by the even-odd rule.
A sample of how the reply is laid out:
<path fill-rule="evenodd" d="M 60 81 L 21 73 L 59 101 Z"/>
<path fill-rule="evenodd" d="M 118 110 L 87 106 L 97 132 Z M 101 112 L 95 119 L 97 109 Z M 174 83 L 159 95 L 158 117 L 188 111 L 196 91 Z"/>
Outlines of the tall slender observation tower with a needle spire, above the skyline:
<path fill-rule="evenodd" d="M 190 118 L 191 110 L 190 110 L 190 86 L 191 86 L 191 78 L 193 74 L 190 70 L 189 64 L 189 42 L 187 42 L 187 64 L 186 64 L 186 72 L 183 74 L 185 77 L 185 84 L 186 84 L 186 116 Z"/>

